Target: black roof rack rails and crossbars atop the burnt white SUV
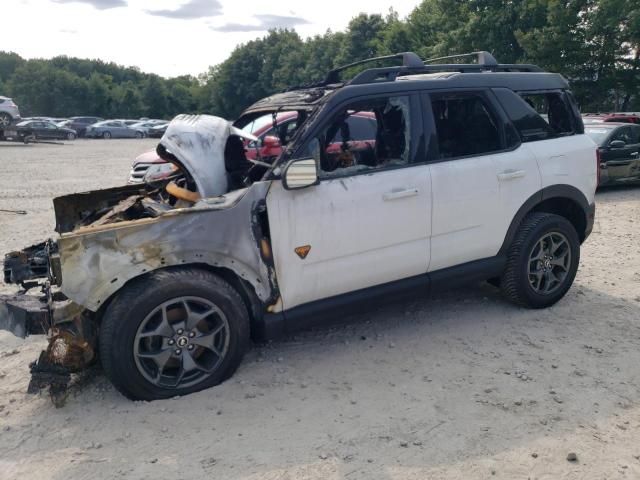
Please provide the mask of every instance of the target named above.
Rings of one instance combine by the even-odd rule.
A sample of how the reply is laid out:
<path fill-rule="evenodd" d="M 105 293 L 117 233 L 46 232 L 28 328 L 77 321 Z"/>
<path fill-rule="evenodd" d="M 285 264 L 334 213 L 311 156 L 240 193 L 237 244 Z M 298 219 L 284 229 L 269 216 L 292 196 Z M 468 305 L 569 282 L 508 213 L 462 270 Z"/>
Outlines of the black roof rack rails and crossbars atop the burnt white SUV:
<path fill-rule="evenodd" d="M 441 60 L 457 59 L 464 57 L 475 57 L 477 63 L 434 63 Z M 314 86 L 326 86 L 341 83 L 340 73 L 343 71 L 381 60 L 402 59 L 402 65 L 393 67 L 370 68 L 356 75 L 348 83 L 349 85 L 364 85 L 377 82 L 392 82 L 399 76 L 412 75 L 418 73 L 438 73 L 438 72 L 458 72 L 458 73 L 477 73 L 477 72 L 543 72 L 537 65 L 528 64 L 500 64 L 489 52 L 480 51 L 472 53 L 464 53 L 460 55 L 451 55 L 448 57 L 432 58 L 427 61 L 422 59 L 413 52 L 398 53 L 386 57 L 376 57 L 359 62 L 350 63 L 342 67 L 331 70 L 324 82 Z"/>

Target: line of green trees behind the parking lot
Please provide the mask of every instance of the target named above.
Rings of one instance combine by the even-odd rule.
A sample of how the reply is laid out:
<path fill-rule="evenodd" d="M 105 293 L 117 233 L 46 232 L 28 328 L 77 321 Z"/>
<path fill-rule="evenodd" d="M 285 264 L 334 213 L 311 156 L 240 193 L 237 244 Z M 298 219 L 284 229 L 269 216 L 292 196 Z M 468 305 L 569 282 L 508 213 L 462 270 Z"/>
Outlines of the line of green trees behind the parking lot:
<path fill-rule="evenodd" d="M 254 101 L 322 79 L 340 65 L 414 51 L 434 58 L 488 50 L 501 63 L 562 73 L 582 111 L 640 111 L 637 0 L 423 0 L 405 18 L 361 14 L 343 32 L 302 39 L 272 30 L 198 77 L 162 78 L 100 60 L 25 60 L 0 52 L 0 95 L 23 115 L 235 118 Z"/>

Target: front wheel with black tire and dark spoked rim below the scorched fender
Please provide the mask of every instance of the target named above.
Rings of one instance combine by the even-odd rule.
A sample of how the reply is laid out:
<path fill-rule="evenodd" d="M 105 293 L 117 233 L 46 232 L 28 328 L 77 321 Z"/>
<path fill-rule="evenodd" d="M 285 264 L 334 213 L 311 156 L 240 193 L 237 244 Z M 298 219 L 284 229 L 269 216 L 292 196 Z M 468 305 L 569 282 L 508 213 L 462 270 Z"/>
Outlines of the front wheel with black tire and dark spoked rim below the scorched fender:
<path fill-rule="evenodd" d="M 100 359 L 123 395 L 158 400 L 222 383 L 248 344 L 249 315 L 233 287 L 204 270 L 161 270 L 107 307 Z"/>

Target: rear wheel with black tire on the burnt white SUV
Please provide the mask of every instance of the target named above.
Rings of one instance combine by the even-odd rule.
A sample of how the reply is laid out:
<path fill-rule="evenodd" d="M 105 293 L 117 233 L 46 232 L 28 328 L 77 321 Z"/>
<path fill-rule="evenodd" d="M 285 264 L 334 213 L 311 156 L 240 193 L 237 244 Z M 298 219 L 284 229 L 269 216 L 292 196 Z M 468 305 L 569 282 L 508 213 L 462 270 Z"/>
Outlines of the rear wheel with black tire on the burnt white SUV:
<path fill-rule="evenodd" d="M 546 308 L 567 293 L 580 263 L 580 239 L 566 218 L 527 215 L 507 255 L 500 279 L 504 296 L 527 308 Z"/>

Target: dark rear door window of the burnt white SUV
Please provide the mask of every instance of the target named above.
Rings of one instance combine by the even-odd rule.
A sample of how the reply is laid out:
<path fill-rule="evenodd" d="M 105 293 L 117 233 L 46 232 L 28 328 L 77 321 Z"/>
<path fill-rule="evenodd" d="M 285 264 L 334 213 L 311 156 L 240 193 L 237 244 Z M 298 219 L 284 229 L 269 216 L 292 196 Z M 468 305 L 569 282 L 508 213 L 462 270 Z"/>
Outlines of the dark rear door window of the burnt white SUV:
<path fill-rule="evenodd" d="M 440 158 L 502 150 L 499 123 L 479 94 L 431 96 Z"/>

